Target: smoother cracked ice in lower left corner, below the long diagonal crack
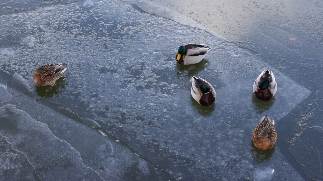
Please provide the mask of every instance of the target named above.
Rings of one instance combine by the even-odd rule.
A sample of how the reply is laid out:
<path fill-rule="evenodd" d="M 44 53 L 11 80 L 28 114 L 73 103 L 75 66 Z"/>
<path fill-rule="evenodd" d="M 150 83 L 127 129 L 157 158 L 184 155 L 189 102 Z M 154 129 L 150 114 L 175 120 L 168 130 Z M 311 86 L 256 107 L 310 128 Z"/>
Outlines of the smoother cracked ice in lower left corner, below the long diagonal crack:
<path fill-rule="evenodd" d="M 16 92 L 11 87 L 8 89 L 10 93 Z M 124 143 L 52 110 L 59 110 L 55 105 L 39 101 L 27 95 L 8 101 L 21 110 L 10 104 L 0 104 L 0 138 L 6 138 L 0 140 L 0 151 L 4 152 L 0 161 L 5 161 L 1 164 L 0 176 L 16 173 L 6 176 L 6 181 L 27 180 L 27 176 L 36 176 L 31 180 L 39 177 L 64 181 L 170 179 L 143 157 L 136 156 Z M 20 167 L 35 167 L 35 173 L 26 174 Z"/>

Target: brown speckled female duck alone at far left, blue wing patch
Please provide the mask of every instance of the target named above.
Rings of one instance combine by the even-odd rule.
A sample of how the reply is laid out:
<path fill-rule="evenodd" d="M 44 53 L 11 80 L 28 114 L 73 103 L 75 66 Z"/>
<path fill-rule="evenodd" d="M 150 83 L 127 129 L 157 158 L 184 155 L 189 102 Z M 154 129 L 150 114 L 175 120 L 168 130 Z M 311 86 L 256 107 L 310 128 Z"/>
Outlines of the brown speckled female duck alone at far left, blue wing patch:
<path fill-rule="evenodd" d="M 34 81 L 37 86 L 54 85 L 67 67 L 65 63 L 45 64 L 38 67 L 34 72 Z"/>

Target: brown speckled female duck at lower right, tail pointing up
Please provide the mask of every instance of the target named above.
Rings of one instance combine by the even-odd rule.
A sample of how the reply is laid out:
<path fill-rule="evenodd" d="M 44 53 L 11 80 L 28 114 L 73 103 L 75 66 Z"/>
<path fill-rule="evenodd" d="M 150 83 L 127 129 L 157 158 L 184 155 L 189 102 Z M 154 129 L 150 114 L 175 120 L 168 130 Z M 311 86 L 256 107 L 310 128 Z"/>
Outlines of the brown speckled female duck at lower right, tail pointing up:
<path fill-rule="evenodd" d="M 277 140 L 277 132 L 274 128 L 275 120 L 270 120 L 266 115 L 262 117 L 252 133 L 252 141 L 262 150 L 273 148 Z"/>

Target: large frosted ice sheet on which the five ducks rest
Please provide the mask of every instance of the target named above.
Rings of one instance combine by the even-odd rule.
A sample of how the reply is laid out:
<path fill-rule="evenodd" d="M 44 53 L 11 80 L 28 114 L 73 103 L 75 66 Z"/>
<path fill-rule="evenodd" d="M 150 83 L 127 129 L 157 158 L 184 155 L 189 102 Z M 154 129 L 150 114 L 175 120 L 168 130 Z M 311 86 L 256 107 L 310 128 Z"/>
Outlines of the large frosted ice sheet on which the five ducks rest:
<path fill-rule="evenodd" d="M 83 4 L 2 19 L 7 31 L 24 32 L 22 40 L 31 34 L 35 37 L 32 47 L 26 40 L 14 50 L 11 61 L 15 64 L 4 55 L 3 69 L 19 72 L 32 84 L 31 72 L 20 64 L 34 70 L 38 64 L 64 60 L 69 84 L 59 99 L 47 100 L 97 121 L 163 173 L 171 171 L 173 178 L 288 180 L 292 173 L 294 179 L 302 180 L 279 148 L 262 157 L 253 148 L 251 135 L 265 114 L 278 127 L 279 119 L 304 100 L 309 90 L 268 65 L 264 57 L 204 30 L 144 13 L 124 2 L 100 6 L 93 14 Z M 17 19 L 23 21 L 15 23 Z M 178 47 L 191 42 L 212 48 L 201 63 L 178 65 Z M 26 47 L 32 53 L 21 58 Z M 33 59 L 40 62 L 28 61 Z M 254 99 L 252 92 L 264 68 L 273 70 L 278 84 L 275 98 L 268 102 Z M 203 107 L 191 98 L 191 75 L 214 86 L 214 105 Z"/>

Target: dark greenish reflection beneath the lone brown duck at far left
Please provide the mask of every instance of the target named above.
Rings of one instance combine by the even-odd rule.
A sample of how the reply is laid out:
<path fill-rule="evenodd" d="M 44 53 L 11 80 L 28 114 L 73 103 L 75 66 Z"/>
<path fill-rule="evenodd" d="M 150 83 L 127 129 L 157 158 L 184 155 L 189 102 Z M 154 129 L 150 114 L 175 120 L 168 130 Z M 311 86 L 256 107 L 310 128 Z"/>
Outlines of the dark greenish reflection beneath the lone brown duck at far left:
<path fill-rule="evenodd" d="M 47 86 L 35 86 L 37 95 L 42 98 L 50 98 L 50 97 L 57 97 L 58 94 L 64 92 L 66 90 L 66 86 L 68 84 L 67 79 L 65 77 L 60 77 L 55 85 L 52 87 L 50 85 Z"/>

